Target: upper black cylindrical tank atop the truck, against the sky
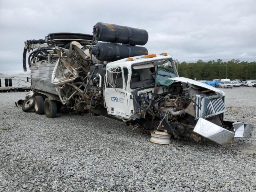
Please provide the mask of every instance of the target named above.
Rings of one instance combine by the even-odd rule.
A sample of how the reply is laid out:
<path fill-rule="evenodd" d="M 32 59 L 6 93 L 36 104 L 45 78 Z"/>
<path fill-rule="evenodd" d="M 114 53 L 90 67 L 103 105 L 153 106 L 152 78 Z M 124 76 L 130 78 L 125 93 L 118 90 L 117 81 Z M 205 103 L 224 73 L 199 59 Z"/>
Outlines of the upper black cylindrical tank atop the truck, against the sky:
<path fill-rule="evenodd" d="M 145 45 L 148 32 L 144 29 L 98 22 L 93 27 L 96 40 L 130 45 Z"/>

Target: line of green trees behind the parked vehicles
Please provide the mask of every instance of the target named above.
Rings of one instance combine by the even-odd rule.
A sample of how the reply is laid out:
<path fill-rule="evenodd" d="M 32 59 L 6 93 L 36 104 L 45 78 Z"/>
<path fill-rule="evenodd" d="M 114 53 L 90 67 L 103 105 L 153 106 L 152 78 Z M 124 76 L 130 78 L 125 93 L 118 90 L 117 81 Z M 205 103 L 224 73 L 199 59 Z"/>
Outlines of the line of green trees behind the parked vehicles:
<path fill-rule="evenodd" d="M 196 80 L 212 79 L 256 79 L 256 62 L 247 62 L 232 59 L 223 62 L 221 59 L 204 62 L 175 62 L 178 66 L 180 77 L 186 77 Z M 227 72 L 226 72 L 227 69 Z"/>

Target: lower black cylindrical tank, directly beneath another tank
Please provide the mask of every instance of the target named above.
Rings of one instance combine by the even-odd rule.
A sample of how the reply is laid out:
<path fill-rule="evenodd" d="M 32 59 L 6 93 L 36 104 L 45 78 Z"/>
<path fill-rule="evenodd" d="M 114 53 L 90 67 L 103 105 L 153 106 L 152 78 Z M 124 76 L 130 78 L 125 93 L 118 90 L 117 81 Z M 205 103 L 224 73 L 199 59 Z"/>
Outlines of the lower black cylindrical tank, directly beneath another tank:
<path fill-rule="evenodd" d="M 93 54 L 101 61 L 116 61 L 119 59 L 147 55 L 148 50 L 145 47 L 128 46 L 112 43 L 97 43 L 91 48 L 90 54 Z"/>

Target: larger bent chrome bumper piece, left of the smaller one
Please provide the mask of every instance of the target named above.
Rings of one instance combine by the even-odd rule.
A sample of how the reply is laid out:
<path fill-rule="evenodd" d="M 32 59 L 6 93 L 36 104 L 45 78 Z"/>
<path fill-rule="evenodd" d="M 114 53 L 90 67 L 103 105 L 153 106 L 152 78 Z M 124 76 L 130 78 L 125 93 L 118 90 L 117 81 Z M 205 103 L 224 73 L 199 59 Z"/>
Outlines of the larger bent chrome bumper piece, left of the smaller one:
<path fill-rule="evenodd" d="M 198 122 L 193 130 L 193 132 L 208 138 L 220 145 L 229 144 L 235 133 L 229 130 L 226 130 L 208 120 L 199 118 Z"/>

